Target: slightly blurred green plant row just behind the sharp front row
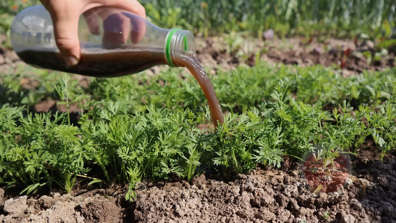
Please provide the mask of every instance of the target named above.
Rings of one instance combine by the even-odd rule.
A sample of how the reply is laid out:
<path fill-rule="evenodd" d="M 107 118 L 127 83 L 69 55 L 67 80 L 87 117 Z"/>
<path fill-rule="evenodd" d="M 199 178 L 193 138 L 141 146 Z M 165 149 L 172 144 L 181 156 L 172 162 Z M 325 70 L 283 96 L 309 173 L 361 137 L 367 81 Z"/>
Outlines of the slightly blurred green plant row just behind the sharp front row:
<path fill-rule="evenodd" d="M 209 76 L 223 110 L 244 113 L 270 98 L 279 81 L 286 83 L 287 94 L 306 104 L 321 103 L 333 108 L 345 100 L 355 109 L 360 105 L 375 109 L 396 94 L 395 71 L 395 68 L 381 72 L 365 71 L 345 78 L 330 67 L 321 65 L 290 67 L 279 64 L 275 68 L 261 62 L 254 67 L 242 64 L 232 71 L 219 68 L 216 75 Z M 21 80 L 25 78 L 36 82 L 37 86 L 24 88 Z M 4 97 L 0 98 L 0 104 L 34 106 L 44 98 L 61 100 L 64 96 L 59 96 L 53 87 L 57 82 L 58 72 L 21 66 L 12 74 L 2 75 L 0 94 Z M 63 88 L 72 89 L 73 94 L 89 94 L 91 99 L 101 102 L 125 100 L 128 101 L 128 109 L 139 112 L 146 110 L 148 101 L 156 107 L 172 110 L 180 107 L 195 110 L 207 104 L 200 86 L 186 69 L 164 67 L 156 75 L 142 72 L 118 78 L 91 78 L 87 88 L 80 87 L 74 79 Z"/>

